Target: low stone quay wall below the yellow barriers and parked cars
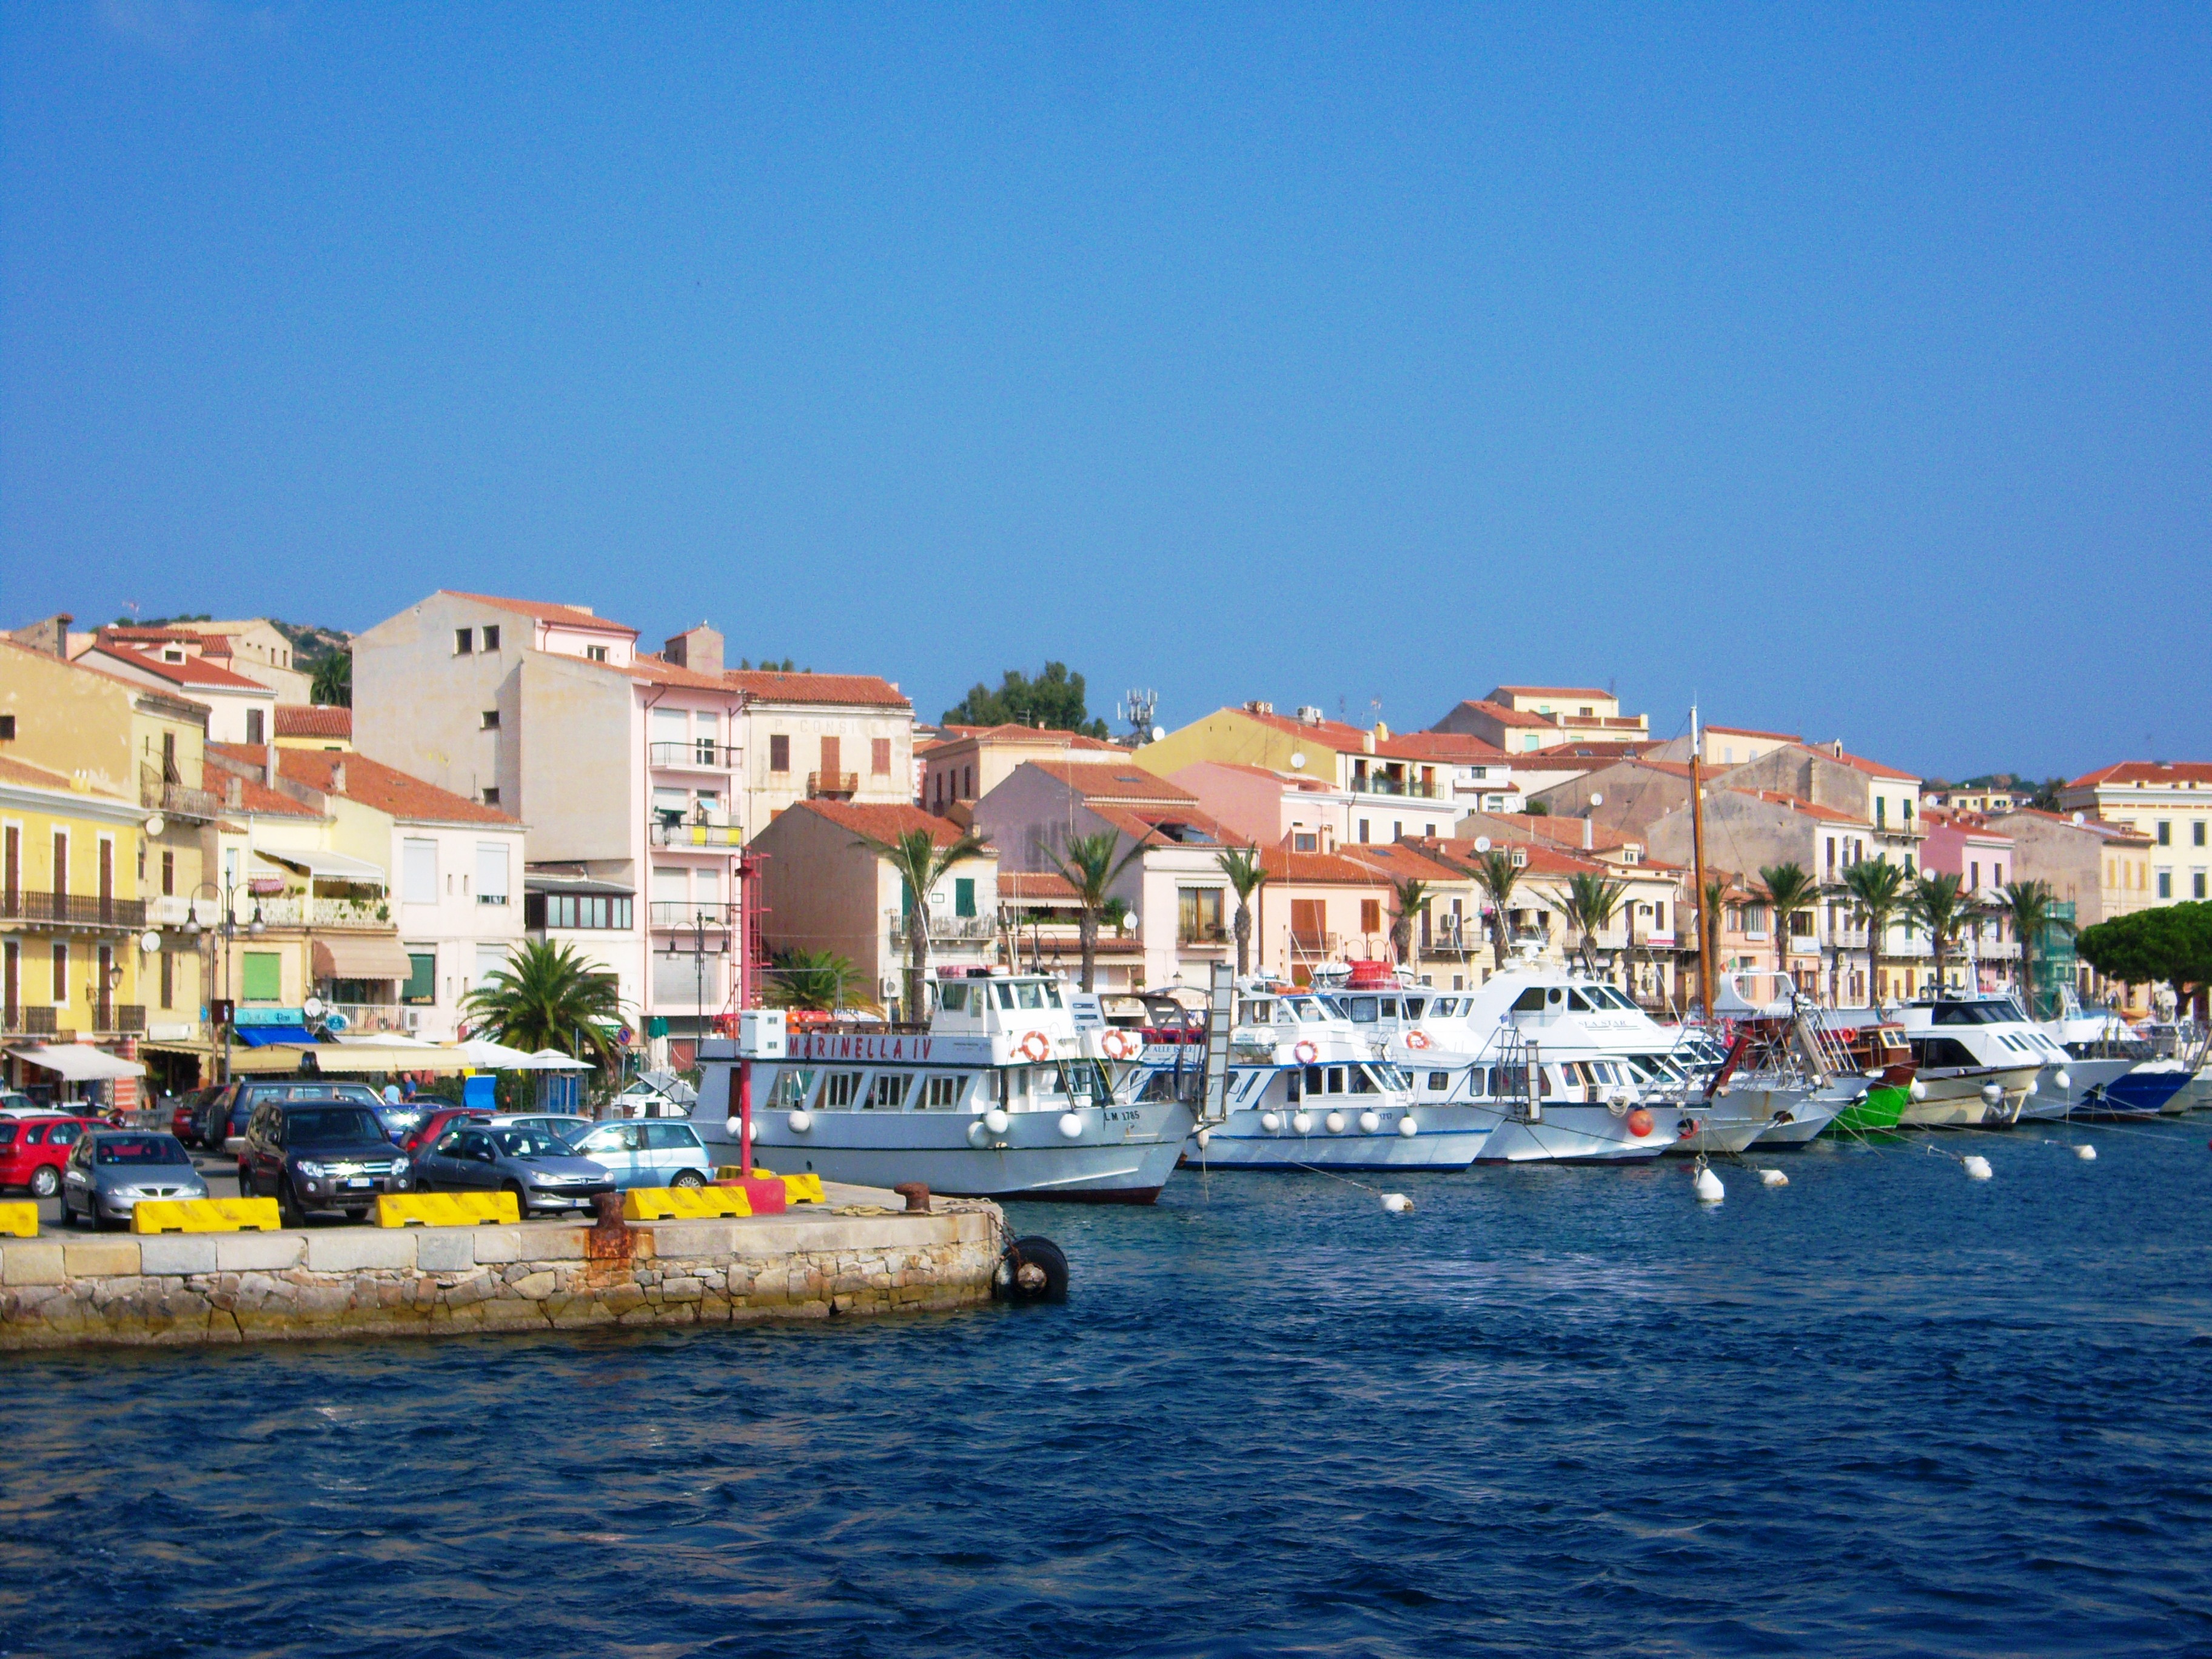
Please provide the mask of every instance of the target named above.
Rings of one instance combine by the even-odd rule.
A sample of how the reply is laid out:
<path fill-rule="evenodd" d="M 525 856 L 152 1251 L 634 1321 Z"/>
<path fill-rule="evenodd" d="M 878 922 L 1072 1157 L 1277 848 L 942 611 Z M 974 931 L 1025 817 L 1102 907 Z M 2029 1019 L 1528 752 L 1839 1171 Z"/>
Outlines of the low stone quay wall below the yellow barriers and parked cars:
<path fill-rule="evenodd" d="M 730 1325 L 989 1301 L 995 1206 L 936 1214 L 0 1241 L 0 1349 Z"/>

